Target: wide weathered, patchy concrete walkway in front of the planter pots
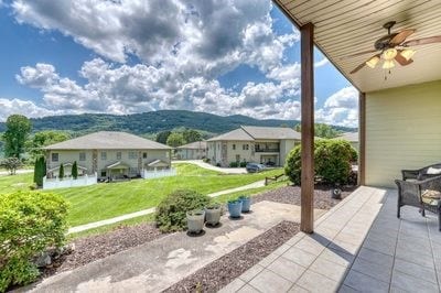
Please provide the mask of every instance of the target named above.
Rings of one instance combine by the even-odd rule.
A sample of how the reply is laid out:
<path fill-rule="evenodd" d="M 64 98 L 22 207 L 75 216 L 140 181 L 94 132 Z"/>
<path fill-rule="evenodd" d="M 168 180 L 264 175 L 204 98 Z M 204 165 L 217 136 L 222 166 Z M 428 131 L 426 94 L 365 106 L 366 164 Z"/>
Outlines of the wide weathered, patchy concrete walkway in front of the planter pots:
<path fill-rule="evenodd" d="M 300 207 L 260 202 L 239 220 L 222 217 L 200 237 L 176 232 L 22 289 L 31 292 L 160 292 L 233 251 L 281 220 L 299 221 Z M 315 217 L 325 210 L 314 210 Z"/>

